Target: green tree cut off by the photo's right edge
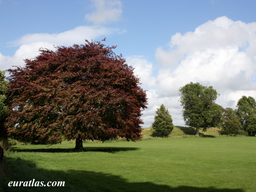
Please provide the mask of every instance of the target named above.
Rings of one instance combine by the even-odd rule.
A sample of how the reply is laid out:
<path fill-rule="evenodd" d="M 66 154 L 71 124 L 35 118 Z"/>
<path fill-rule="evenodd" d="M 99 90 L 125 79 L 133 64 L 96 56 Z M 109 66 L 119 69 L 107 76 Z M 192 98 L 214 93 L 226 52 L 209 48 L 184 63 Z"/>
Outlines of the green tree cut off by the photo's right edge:
<path fill-rule="evenodd" d="M 249 136 L 256 134 L 256 102 L 253 97 L 242 96 L 237 103 L 237 115 Z"/>

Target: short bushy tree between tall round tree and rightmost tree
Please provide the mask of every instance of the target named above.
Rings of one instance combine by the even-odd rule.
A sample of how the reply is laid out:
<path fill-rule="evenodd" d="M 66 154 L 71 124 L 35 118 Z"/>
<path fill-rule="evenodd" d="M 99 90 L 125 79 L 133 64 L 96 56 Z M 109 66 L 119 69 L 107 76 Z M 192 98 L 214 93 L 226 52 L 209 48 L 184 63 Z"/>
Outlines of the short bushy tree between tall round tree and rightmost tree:
<path fill-rule="evenodd" d="M 232 108 L 226 108 L 223 114 L 222 134 L 243 134 L 242 124 L 240 123 L 236 112 Z"/>

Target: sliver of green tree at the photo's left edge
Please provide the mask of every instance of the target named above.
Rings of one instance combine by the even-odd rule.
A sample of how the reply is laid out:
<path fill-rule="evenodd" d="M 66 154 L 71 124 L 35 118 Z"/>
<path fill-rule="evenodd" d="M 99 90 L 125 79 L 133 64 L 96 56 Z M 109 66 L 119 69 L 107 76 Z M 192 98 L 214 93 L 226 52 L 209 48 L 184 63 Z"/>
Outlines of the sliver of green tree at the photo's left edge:
<path fill-rule="evenodd" d="M 7 130 L 4 127 L 6 119 L 6 92 L 8 90 L 6 86 L 5 71 L 0 71 L 0 138 L 7 138 Z"/>

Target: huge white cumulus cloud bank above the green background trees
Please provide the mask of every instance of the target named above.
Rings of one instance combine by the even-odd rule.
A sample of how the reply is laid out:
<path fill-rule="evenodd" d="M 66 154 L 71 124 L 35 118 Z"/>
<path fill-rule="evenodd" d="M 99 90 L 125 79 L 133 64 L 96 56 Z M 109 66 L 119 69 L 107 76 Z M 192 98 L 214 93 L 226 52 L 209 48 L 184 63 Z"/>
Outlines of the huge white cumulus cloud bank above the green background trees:
<path fill-rule="evenodd" d="M 256 98 L 256 22 L 233 21 L 226 16 L 198 26 L 194 32 L 176 33 L 169 49 L 156 50 L 160 64 L 156 86 L 149 91 L 150 104 L 144 112 L 145 126 L 154 120 L 153 111 L 163 103 L 175 125 L 184 125 L 179 88 L 189 82 L 213 86 L 219 93 L 216 103 L 236 107 L 243 96 Z M 149 77 L 150 78 L 150 77 Z M 151 117 L 151 118 L 148 118 Z M 150 122 L 151 120 L 151 122 Z"/>

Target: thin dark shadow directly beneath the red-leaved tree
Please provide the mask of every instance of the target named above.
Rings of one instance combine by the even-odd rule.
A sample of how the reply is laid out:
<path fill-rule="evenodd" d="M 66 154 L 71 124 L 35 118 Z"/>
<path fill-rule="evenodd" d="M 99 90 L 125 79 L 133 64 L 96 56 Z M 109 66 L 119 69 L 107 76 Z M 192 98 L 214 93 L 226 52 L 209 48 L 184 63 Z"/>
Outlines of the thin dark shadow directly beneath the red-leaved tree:
<path fill-rule="evenodd" d="M 20 149 L 16 147 L 12 147 L 10 149 L 13 152 L 47 152 L 47 153 L 72 153 L 72 152 L 81 152 L 76 151 L 74 148 L 39 148 L 39 149 Z M 83 152 L 108 152 L 108 153 L 116 153 L 120 151 L 131 151 L 131 150 L 139 150 L 139 148 L 135 147 L 84 147 Z"/>

